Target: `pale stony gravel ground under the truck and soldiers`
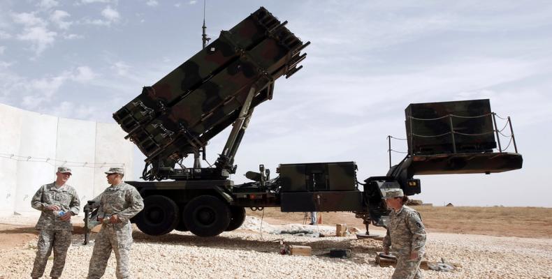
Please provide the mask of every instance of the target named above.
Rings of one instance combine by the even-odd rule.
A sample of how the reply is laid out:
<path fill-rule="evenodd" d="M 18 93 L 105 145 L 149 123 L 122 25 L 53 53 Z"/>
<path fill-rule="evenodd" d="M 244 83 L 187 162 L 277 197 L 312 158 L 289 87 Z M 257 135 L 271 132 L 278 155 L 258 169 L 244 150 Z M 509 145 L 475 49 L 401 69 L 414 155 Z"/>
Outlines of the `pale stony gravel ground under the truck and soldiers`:
<path fill-rule="evenodd" d="M 0 218 L 3 224 L 29 225 L 35 218 Z M 375 265 L 381 241 L 335 237 L 335 227 L 314 229 L 327 235 L 316 238 L 272 234 L 278 230 L 312 229 L 312 226 L 263 224 L 247 217 L 242 228 L 213 238 L 199 238 L 187 232 L 147 236 L 134 232 L 131 255 L 134 278 L 390 278 L 393 268 Z M 1 233 L 1 232 L 0 232 Z M 63 278 L 85 278 L 92 246 L 82 246 L 82 235 L 73 235 L 73 246 Z M 313 256 L 279 255 L 279 239 L 285 243 L 312 247 Z M 425 278 L 552 278 L 552 239 L 481 236 L 470 234 L 428 234 L 426 259 L 462 267 L 453 272 L 422 271 Z M 349 259 L 325 256 L 329 248 L 350 248 Z M 29 278 L 36 252 L 36 239 L 24 247 L 0 250 L 0 278 Z M 52 261 L 48 262 L 49 274 Z M 49 277 L 45 277 L 49 278 Z M 115 278 L 112 254 L 103 278 Z"/>

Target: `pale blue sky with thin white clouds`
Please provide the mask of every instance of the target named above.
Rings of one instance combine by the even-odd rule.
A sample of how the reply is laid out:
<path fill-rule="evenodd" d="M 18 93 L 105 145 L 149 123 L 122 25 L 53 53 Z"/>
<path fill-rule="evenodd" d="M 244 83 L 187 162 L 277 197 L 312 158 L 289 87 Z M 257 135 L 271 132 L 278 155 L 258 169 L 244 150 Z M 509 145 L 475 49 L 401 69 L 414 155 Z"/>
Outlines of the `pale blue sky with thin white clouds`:
<path fill-rule="evenodd" d="M 490 98 L 511 116 L 521 170 L 419 176 L 424 202 L 552 206 L 552 3 L 549 1 L 207 1 L 208 34 L 265 6 L 312 44 L 276 82 L 236 158 L 354 160 L 358 179 L 388 169 L 386 135 L 405 137 L 409 103 Z M 112 112 L 201 48 L 203 1 L 0 2 L 0 103 L 73 119 Z M 215 160 L 226 140 L 208 147 Z M 404 142 L 394 142 L 404 151 Z M 394 154 L 399 160 L 400 154 Z M 138 160 L 137 164 L 141 164 Z M 141 169 L 138 165 L 136 169 Z"/>

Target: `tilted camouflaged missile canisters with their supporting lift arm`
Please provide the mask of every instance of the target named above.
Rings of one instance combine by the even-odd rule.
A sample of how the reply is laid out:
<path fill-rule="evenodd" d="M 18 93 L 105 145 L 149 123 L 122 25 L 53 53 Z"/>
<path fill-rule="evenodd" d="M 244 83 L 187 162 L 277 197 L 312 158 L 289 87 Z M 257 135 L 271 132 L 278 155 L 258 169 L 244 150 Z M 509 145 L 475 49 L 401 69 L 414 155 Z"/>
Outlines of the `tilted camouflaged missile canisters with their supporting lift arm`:
<path fill-rule="evenodd" d="M 234 124 L 209 179 L 235 172 L 233 157 L 254 107 L 273 97 L 274 82 L 303 66 L 303 43 L 261 7 L 113 114 L 147 157 L 143 179 L 161 180 L 174 166 Z M 197 167 L 197 166 L 194 166 Z M 188 177 L 188 176 L 187 176 Z"/>

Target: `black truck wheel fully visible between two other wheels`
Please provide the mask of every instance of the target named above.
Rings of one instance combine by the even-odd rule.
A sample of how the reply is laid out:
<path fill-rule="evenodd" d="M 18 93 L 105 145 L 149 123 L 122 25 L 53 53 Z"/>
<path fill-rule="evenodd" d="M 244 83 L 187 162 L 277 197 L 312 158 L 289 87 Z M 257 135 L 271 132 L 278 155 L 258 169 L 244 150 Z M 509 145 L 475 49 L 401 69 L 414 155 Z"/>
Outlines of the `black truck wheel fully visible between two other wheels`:
<path fill-rule="evenodd" d="M 217 236 L 229 223 L 230 209 L 217 197 L 194 197 L 184 207 L 184 224 L 196 236 Z"/>

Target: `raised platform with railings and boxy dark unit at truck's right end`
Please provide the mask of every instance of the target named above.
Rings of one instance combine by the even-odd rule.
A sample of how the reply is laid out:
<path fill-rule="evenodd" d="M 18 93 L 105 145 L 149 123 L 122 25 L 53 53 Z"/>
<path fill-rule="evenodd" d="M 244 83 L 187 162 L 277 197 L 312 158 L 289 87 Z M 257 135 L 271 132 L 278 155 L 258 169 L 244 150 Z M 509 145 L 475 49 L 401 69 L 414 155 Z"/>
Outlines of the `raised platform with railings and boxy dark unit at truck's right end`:
<path fill-rule="evenodd" d="M 405 110 L 408 152 L 398 164 L 412 177 L 417 174 L 491 174 L 521 169 L 523 158 L 518 153 L 511 119 L 497 127 L 488 99 L 442 103 L 411 104 Z M 509 127 L 510 134 L 503 131 Z M 500 137 L 509 138 L 502 148 Z M 389 166 L 391 167 L 391 139 Z M 514 152 L 507 152 L 513 144 Z M 496 149 L 496 150 L 495 150 Z M 391 167 L 389 176 L 398 169 Z M 393 175 L 395 174 L 395 175 Z"/>

